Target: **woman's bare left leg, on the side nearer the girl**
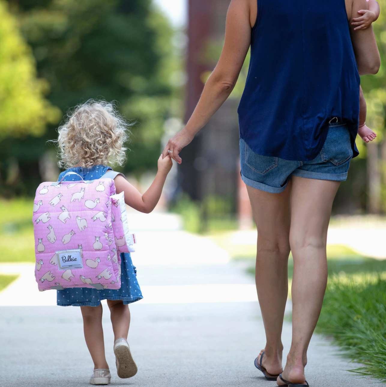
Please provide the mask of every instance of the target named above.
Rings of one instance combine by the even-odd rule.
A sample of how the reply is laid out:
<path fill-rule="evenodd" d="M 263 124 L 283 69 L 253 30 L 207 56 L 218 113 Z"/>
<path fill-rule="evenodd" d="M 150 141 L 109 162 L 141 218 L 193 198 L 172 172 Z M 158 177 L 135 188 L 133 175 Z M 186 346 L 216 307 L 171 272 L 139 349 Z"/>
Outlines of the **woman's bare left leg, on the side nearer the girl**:
<path fill-rule="evenodd" d="M 247 189 L 258 231 L 256 288 L 266 335 L 262 365 L 270 375 L 277 375 L 283 369 L 281 336 L 288 296 L 291 182 L 280 194 Z M 260 356 L 261 352 L 259 361 Z"/>

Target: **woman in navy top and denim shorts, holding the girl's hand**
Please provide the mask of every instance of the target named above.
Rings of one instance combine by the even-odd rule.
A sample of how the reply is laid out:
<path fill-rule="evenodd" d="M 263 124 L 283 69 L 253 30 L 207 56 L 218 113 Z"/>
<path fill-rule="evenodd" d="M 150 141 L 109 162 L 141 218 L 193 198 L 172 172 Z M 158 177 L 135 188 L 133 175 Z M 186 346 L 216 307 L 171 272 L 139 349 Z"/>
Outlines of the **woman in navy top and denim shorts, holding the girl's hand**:
<path fill-rule="evenodd" d="M 181 163 L 181 149 L 231 93 L 250 46 L 238 113 L 266 334 L 255 365 L 278 385 L 307 384 L 307 348 L 327 281 L 331 207 L 358 155 L 359 74 L 375 74 L 380 65 L 372 27 L 354 30 L 351 24 L 366 9 L 366 0 L 232 0 L 219 63 L 186 127 L 163 152 Z M 292 345 L 283 370 L 290 250 Z"/>

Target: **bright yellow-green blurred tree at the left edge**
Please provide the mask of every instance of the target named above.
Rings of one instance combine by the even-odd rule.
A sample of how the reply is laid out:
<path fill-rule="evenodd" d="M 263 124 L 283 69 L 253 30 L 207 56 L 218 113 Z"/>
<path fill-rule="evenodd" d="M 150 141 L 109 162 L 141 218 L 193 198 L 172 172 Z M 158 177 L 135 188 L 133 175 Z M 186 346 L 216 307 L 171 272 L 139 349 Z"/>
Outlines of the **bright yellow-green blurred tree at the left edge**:
<path fill-rule="evenodd" d="M 60 111 L 44 98 L 48 84 L 36 79 L 32 51 L 3 1 L 0 19 L 0 139 L 41 135 L 46 123 L 60 120 Z"/>

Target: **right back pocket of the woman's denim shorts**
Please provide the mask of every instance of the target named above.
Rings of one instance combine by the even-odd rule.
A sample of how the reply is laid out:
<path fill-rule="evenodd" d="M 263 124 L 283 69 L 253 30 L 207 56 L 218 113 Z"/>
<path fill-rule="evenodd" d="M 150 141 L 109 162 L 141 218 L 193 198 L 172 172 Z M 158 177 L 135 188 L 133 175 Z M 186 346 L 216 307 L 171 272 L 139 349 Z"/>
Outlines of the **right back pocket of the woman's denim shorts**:
<path fill-rule="evenodd" d="M 352 158 L 351 137 L 346 125 L 330 126 L 320 151 L 322 161 L 330 161 L 334 165 L 343 164 Z"/>

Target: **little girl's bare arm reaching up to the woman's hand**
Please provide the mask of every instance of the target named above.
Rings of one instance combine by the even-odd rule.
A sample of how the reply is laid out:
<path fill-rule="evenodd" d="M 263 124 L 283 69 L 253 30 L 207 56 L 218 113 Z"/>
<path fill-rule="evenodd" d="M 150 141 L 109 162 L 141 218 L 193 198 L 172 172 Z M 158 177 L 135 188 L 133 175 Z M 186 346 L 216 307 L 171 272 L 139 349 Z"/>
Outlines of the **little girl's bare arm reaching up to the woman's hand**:
<path fill-rule="evenodd" d="M 149 214 L 154 210 L 159 198 L 161 197 L 162 188 L 164 187 L 166 176 L 173 166 L 170 156 L 162 159 L 162 154 L 158 159 L 158 172 L 152 185 L 141 195 L 137 188 L 133 187 L 123 176 L 117 175 L 114 179 L 117 194 L 125 192 L 125 203 L 137 211 Z"/>

